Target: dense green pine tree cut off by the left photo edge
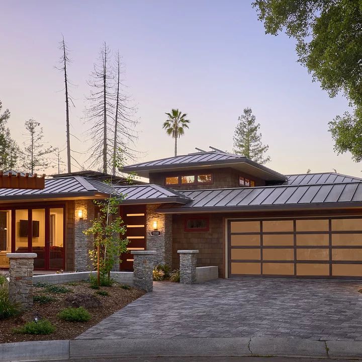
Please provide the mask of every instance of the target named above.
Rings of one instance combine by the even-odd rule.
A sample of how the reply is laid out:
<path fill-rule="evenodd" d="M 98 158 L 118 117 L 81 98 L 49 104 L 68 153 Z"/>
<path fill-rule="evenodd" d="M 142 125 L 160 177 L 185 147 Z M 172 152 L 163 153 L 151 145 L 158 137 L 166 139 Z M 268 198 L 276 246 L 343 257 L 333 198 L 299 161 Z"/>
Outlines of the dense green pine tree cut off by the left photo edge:
<path fill-rule="evenodd" d="M 0 101 L 0 170 L 9 170 L 16 167 L 19 157 L 19 147 L 11 138 L 6 124 L 10 118 L 9 110 L 2 114 L 3 104 Z"/>

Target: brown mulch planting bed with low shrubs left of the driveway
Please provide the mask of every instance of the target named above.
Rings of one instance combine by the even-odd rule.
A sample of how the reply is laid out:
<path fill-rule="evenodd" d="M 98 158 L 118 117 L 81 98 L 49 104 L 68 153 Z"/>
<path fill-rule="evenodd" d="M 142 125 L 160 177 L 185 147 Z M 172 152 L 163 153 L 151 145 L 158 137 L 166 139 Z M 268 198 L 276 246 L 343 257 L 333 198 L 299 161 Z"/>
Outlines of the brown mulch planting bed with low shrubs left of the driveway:
<path fill-rule="evenodd" d="M 114 283 L 112 287 L 91 289 L 87 282 L 66 283 L 56 286 L 40 284 L 34 287 L 35 302 L 31 310 L 18 316 L 0 320 L 0 342 L 22 342 L 32 340 L 72 339 L 99 323 L 102 319 L 133 302 L 145 294 L 139 289 Z M 62 293 L 59 293 L 59 292 Z M 79 298 L 78 298 L 79 297 Z M 78 307 L 85 301 L 90 318 L 86 322 L 69 322 L 59 318 L 58 314 L 66 307 Z M 14 333 L 27 322 L 34 319 L 49 320 L 55 327 L 50 334 Z"/>

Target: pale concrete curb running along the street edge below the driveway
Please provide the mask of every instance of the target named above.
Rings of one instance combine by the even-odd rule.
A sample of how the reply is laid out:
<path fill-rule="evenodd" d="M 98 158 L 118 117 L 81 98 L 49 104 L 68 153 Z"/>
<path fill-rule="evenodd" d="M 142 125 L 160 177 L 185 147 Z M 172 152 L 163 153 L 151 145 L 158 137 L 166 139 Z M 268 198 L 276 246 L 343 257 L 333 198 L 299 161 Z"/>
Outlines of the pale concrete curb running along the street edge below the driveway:
<path fill-rule="evenodd" d="M 0 344 L 0 362 L 117 356 L 284 356 L 360 358 L 362 343 L 302 338 L 73 339 Z"/>

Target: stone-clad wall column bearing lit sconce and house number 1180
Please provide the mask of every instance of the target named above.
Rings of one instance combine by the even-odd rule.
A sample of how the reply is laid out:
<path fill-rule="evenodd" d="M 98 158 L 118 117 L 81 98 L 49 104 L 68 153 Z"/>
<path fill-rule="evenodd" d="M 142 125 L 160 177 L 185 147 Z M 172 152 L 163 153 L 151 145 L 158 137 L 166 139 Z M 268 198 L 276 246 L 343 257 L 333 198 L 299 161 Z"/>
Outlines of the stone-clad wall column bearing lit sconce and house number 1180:
<path fill-rule="evenodd" d="M 171 267 L 172 264 L 172 215 L 158 214 L 156 209 L 159 204 L 149 204 L 146 206 L 146 248 L 155 250 L 155 265 L 166 264 Z M 160 236 L 152 236 L 153 221 L 157 221 L 157 230 L 161 232 Z"/>

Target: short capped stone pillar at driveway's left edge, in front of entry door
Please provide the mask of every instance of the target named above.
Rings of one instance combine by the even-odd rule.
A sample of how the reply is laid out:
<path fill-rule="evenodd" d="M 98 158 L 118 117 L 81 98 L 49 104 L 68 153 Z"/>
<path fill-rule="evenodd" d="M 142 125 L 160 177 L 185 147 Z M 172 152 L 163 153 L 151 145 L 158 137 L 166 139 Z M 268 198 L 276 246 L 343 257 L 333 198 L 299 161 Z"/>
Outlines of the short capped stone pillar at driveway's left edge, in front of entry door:
<path fill-rule="evenodd" d="M 154 250 L 133 250 L 133 286 L 152 292 L 153 290 L 153 267 Z"/>

